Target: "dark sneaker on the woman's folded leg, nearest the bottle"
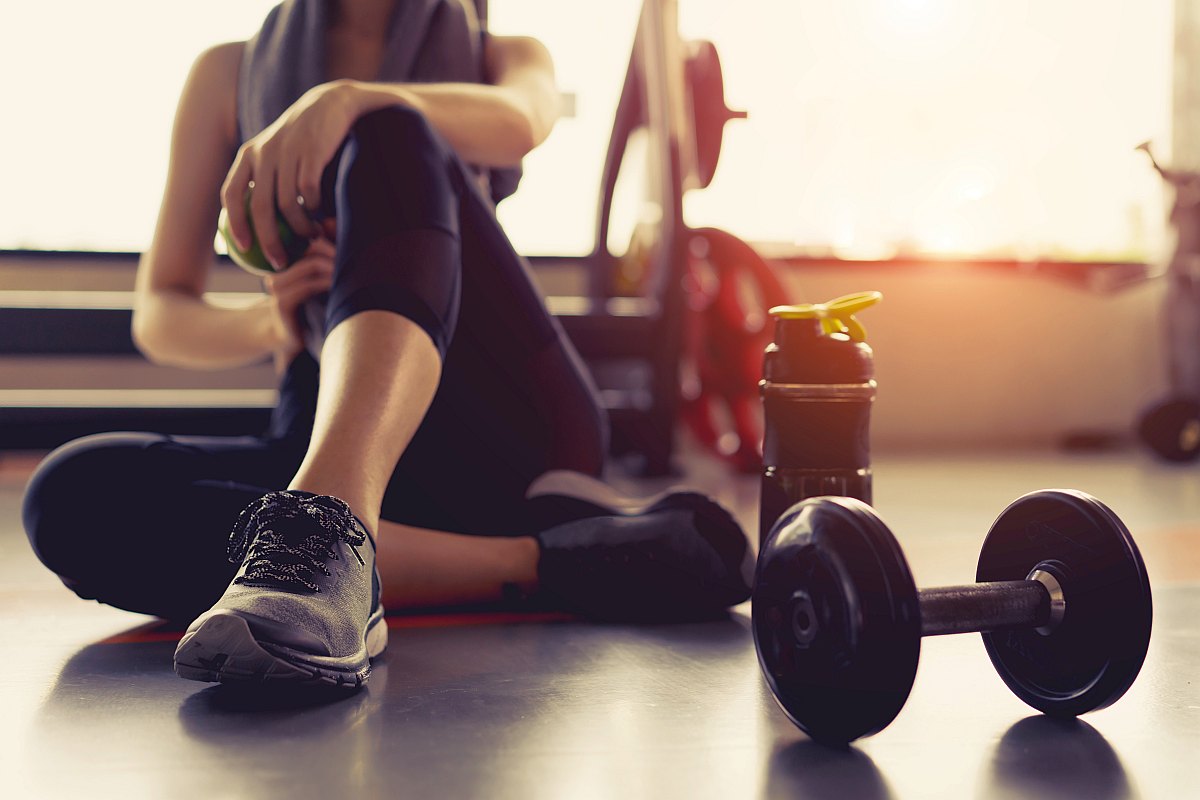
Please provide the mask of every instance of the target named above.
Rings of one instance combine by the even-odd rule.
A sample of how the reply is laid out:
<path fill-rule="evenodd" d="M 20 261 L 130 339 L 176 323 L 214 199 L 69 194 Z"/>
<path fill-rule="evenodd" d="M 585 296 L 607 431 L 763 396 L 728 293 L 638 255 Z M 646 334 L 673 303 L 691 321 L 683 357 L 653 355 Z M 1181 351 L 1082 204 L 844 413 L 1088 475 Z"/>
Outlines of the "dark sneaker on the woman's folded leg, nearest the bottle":
<path fill-rule="evenodd" d="M 539 495 L 547 497 L 547 495 Z M 558 495 L 566 497 L 566 495 Z M 536 534 L 538 600 L 593 619 L 710 619 L 750 597 L 755 554 L 737 521 L 696 492 L 612 506 Z M 558 505 L 565 509 L 564 505 Z"/>

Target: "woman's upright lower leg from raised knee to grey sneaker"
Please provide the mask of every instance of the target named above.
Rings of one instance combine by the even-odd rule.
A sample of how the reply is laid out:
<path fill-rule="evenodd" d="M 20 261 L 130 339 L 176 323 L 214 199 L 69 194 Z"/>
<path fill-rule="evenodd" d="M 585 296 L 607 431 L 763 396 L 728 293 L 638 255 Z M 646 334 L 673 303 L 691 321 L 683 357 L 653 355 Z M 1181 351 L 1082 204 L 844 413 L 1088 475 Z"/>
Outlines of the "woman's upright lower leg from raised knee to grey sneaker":
<path fill-rule="evenodd" d="M 180 640 L 184 678 L 356 686 L 386 645 L 374 534 L 454 339 L 466 175 L 402 107 L 358 120 L 334 169 L 337 258 L 312 438 L 289 489 L 240 515 L 230 542 L 242 565 Z"/>

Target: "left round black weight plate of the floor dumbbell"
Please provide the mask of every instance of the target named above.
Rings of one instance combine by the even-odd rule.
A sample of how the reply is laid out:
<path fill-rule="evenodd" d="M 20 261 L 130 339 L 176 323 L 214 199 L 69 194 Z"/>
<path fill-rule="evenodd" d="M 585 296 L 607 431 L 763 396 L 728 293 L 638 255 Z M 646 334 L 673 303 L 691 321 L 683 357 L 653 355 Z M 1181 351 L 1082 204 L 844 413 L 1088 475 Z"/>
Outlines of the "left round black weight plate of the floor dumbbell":
<path fill-rule="evenodd" d="M 775 699 L 818 741 L 882 730 L 912 690 L 917 587 L 895 537 L 859 500 L 811 498 L 780 517 L 758 555 L 752 627 Z"/>

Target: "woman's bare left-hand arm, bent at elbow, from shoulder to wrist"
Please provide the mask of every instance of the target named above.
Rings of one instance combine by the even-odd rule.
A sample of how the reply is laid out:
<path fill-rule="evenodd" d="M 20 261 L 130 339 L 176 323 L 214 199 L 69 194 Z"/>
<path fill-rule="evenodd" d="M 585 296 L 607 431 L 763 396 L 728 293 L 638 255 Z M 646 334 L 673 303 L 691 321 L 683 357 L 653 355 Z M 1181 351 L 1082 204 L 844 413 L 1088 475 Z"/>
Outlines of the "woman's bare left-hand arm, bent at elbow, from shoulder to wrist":
<path fill-rule="evenodd" d="M 172 133 L 158 222 L 138 265 L 133 339 L 160 363 L 234 367 L 278 342 L 270 297 L 241 308 L 203 296 L 212 264 L 218 190 L 236 150 L 236 76 L 241 43 L 203 53 L 187 78 Z"/>

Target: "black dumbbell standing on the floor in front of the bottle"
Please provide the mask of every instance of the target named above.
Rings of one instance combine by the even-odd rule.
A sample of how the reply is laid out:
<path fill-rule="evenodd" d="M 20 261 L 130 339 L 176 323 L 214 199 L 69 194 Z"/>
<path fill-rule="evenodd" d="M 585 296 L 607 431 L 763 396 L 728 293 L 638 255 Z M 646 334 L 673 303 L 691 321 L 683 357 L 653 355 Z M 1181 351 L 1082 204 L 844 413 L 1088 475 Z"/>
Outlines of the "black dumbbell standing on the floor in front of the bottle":
<path fill-rule="evenodd" d="M 984 540 L 976 581 L 918 591 L 869 505 L 796 504 L 761 547 L 752 599 L 758 663 L 780 708 L 817 741 L 878 733 L 908 698 L 920 638 L 972 631 L 1009 688 L 1051 716 L 1105 708 L 1138 676 L 1150 581 L 1129 531 L 1096 498 L 1048 489 L 1014 500 Z"/>

